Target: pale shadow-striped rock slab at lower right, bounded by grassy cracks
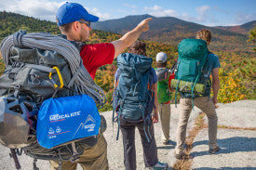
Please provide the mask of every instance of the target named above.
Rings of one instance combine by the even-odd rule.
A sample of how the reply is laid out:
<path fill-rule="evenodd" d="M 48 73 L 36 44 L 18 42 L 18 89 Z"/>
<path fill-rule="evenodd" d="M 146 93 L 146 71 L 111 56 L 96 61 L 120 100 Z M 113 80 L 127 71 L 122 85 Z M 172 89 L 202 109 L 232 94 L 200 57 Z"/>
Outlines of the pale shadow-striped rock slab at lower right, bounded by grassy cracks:
<path fill-rule="evenodd" d="M 191 155 L 192 169 L 256 169 L 256 131 L 218 129 L 216 154 L 209 154 L 208 129 L 203 129 L 194 140 Z"/>

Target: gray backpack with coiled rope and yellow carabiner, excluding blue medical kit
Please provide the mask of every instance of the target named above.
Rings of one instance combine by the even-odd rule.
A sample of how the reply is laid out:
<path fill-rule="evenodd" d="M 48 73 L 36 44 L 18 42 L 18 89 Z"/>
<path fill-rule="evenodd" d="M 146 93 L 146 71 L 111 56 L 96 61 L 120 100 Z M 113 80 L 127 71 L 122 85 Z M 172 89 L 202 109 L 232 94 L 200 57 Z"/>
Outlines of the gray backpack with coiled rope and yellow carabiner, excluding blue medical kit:
<path fill-rule="evenodd" d="M 49 33 L 19 32 L 2 41 L 6 70 L 0 77 L 0 143 L 11 149 L 17 169 L 18 149 L 34 161 L 74 162 L 97 143 L 97 137 L 86 137 L 46 149 L 35 137 L 37 113 L 45 99 L 87 94 L 98 107 L 105 102 L 101 87 L 90 77 L 77 49 L 74 42 Z M 104 129 L 101 116 L 100 133 Z"/>

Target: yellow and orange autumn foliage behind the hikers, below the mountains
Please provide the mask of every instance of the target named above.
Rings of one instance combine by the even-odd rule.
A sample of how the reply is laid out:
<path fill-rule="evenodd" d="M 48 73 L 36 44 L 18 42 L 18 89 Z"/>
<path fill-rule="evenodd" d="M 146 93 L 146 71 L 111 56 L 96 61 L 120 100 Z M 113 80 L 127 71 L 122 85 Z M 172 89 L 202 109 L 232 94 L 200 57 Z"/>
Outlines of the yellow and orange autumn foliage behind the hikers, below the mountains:
<path fill-rule="evenodd" d="M 122 35 L 92 31 L 88 44 L 106 43 L 119 39 Z M 153 58 L 155 67 L 155 55 L 162 51 L 168 54 L 168 68 L 178 59 L 177 46 L 145 41 L 147 56 Z M 229 45 L 231 46 L 231 45 Z M 243 45 L 245 46 L 245 45 Z M 224 47 L 224 46 L 223 46 Z M 219 56 L 221 61 L 220 83 L 218 100 L 222 103 L 233 102 L 240 99 L 256 99 L 256 58 L 255 52 L 243 50 L 223 50 L 220 47 L 209 46 L 209 50 Z M 0 74 L 4 72 L 5 65 L 0 57 Z M 112 110 L 112 97 L 114 92 L 114 75 L 117 69 L 116 59 L 112 65 L 105 65 L 98 69 L 95 82 L 104 90 L 107 103 L 100 111 Z M 174 97 L 174 95 L 172 95 Z"/>

